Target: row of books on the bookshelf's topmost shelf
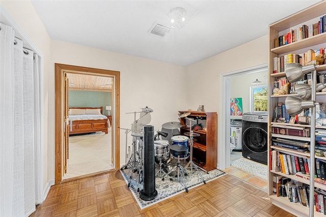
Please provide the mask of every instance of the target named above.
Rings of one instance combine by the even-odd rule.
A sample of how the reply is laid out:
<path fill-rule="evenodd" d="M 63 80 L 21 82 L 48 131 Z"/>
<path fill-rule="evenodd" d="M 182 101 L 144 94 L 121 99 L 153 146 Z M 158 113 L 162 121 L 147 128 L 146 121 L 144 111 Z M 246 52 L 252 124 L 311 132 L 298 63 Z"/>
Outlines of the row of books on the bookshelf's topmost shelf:
<path fill-rule="evenodd" d="M 302 25 L 300 28 L 290 30 L 283 36 L 274 39 L 274 48 L 303 40 L 326 32 L 326 15 L 320 17 L 317 23 Z"/>

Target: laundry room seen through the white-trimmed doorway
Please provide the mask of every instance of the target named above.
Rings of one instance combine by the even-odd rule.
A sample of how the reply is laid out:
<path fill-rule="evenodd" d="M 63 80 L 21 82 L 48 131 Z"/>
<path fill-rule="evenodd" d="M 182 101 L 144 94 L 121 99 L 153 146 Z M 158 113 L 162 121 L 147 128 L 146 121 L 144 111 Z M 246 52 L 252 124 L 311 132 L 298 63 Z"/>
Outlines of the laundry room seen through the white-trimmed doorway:
<path fill-rule="evenodd" d="M 267 189 L 267 68 L 230 76 L 228 173 Z"/>

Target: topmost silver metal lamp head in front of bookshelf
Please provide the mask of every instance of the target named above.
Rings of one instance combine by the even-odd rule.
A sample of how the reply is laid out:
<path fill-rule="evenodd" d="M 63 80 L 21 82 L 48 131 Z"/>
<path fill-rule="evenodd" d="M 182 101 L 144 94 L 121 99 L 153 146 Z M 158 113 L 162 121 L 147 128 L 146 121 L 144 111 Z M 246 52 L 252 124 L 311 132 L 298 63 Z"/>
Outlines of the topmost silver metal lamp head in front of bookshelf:
<path fill-rule="evenodd" d="M 297 82 L 304 74 L 316 69 L 315 64 L 302 66 L 300 63 L 288 63 L 285 66 L 285 74 L 290 83 Z"/>

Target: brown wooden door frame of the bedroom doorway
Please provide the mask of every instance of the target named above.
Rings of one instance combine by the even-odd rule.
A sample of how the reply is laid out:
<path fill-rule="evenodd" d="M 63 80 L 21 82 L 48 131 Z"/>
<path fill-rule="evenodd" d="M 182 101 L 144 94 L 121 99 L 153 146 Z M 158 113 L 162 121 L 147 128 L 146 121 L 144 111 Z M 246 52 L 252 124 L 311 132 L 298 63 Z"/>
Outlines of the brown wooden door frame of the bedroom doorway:
<path fill-rule="evenodd" d="M 71 66 L 64 64 L 55 64 L 55 91 L 56 91 L 56 145 L 55 145 L 55 167 L 56 167 L 56 180 L 55 183 L 61 183 L 67 169 L 67 157 L 69 154 L 69 128 L 67 127 L 69 123 L 67 123 L 68 117 L 68 86 L 69 81 L 65 78 L 65 75 L 69 74 L 84 74 L 91 76 L 98 76 L 100 78 L 112 78 L 112 110 L 110 111 L 112 117 L 112 123 L 110 124 L 110 128 L 107 134 L 111 133 L 112 135 L 112 153 L 111 155 L 113 160 L 113 167 L 115 170 L 119 169 L 120 166 L 120 133 L 119 133 L 119 125 L 120 125 L 120 72 L 111 71 L 111 70 L 103 70 L 103 69 L 95 69 L 95 68 L 86 68 L 79 66 Z M 106 115 L 108 111 L 105 111 L 105 107 L 103 107 L 102 114 Z M 100 132 L 99 132 L 100 133 Z M 104 134 L 104 133 L 103 133 Z M 106 135 L 106 134 L 105 134 Z M 105 136 L 103 135 L 103 136 Z M 82 139 L 84 140 L 84 138 Z M 105 140 L 102 140 L 102 143 Z M 107 139 L 106 139 L 107 141 Z M 104 142 L 105 143 L 105 142 Z M 103 171 L 102 171 L 103 172 Z M 101 173 L 101 172 L 97 172 Z M 87 177 L 90 175 L 94 175 L 94 173 L 83 175 L 82 177 Z M 78 176 L 80 178 L 80 176 Z"/>

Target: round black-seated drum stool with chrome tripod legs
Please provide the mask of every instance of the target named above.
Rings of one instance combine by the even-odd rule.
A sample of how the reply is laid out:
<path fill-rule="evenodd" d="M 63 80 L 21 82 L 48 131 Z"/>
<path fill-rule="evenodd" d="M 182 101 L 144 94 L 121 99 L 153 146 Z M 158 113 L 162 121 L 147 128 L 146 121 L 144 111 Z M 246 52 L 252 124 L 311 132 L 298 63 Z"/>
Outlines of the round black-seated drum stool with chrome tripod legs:
<path fill-rule="evenodd" d="M 184 156 L 184 155 L 187 155 L 188 154 L 188 147 L 187 146 L 183 146 L 183 145 L 172 145 L 170 146 L 170 152 L 172 153 L 173 157 L 177 158 L 177 165 L 172 168 L 170 170 L 169 173 L 167 173 L 166 175 L 164 175 L 164 177 L 162 177 L 162 181 L 164 181 L 165 179 L 165 176 L 167 175 L 171 175 L 171 172 L 173 171 L 177 171 L 177 176 L 176 177 L 170 177 L 170 180 L 174 180 L 177 178 L 177 181 L 180 182 L 182 181 L 182 184 L 184 186 L 184 189 L 185 189 L 185 192 L 188 193 L 188 188 L 187 188 L 187 184 L 185 183 L 185 180 L 184 180 L 184 168 L 180 165 L 180 156 Z M 181 180 L 180 180 L 180 177 L 181 177 Z"/>

